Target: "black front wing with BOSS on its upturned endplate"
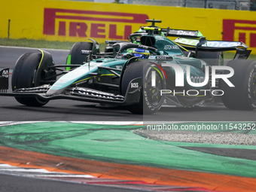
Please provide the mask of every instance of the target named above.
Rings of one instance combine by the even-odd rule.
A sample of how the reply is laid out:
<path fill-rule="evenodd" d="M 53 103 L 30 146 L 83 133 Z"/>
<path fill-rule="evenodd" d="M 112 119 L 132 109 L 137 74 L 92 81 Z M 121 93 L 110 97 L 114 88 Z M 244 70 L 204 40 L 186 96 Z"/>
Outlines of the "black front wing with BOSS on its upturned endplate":
<path fill-rule="evenodd" d="M 138 87 L 132 87 L 131 84 L 138 84 Z M 1 87 L 1 85 L 0 85 Z M 1 88 L 0 88 L 1 89 Z M 69 87 L 61 94 L 47 95 L 50 85 L 41 85 L 39 87 L 21 88 L 11 93 L 8 91 L 0 93 L 0 96 L 14 97 L 37 97 L 45 101 L 54 99 L 71 99 L 83 102 L 97 102 L 113 105 L 132 105 L 138 103 L 142 91 L 142 79 L 136 78 L 130 81 L 125 96 L 114 95 L 99 90 L 93 90 L 87 87 Z"/>

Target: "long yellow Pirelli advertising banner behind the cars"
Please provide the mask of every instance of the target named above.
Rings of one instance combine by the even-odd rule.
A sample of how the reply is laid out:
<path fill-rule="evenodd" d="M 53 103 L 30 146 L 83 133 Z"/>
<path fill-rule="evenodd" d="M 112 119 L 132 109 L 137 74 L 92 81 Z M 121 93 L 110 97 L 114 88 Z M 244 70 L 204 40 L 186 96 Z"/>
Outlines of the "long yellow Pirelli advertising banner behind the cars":
<path fill-rule="evenodd" d="M 243 41 L 256 54 L 256 12 L 151 5 L 8 0 L 1 3 L 0 38 L 48 41 L 126 40 L 146 19 L 158 26 L 200 30 L 208 40 Z M 218 45 L 216 45 L 218 46 Z"/>

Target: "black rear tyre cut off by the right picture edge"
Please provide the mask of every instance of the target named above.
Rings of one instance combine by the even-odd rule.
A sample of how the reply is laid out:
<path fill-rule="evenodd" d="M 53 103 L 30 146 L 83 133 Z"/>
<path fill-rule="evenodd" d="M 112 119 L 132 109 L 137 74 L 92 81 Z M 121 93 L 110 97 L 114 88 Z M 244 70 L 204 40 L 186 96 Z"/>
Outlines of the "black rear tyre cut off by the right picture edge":
<path fill-rule="evenodd" d="M 222 79 L 220 89 L 224 91 L 222 100 L 230 109 L 254 110 L 256 108 L 256 62 L 251 60 L 232 60 L 227 63 L 234 70 L 228 80 L 235 86 L 229 87 Z M 230 72 L 224 71 L 224 74 Z"/>

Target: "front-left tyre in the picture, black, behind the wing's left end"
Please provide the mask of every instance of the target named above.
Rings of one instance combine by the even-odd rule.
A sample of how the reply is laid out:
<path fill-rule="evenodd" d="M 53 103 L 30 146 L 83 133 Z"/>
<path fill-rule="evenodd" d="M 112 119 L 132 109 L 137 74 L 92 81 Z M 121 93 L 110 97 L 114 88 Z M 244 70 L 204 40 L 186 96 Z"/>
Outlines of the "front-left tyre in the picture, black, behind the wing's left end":
<path fill-rule="evenodd" d="M 12 90 L 40 86 L 42 80 L 56 74 L 52 69 L 48 69 L 48 66 L 53 65 L 52 56 L 46 51 L 40 50 L 35 53 L 24 53 L 14 66 L 11 79 Z M 54 79 L 56 80 L 56 78 L 51 78 L 50 80 Z M 47 104 L 47 101 L 37 97 L 15 97 L 15 99 L 20 104 L 28 106 Z"/>

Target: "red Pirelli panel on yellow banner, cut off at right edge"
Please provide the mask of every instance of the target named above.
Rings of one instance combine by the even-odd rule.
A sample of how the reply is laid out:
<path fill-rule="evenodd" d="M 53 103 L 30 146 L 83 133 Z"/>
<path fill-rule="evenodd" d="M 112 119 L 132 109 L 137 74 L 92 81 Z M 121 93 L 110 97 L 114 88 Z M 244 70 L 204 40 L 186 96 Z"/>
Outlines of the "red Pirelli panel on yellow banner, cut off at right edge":
<path fill-rule="evenodd" d="M 256 20 L 223 20 L 222 40 L 238 40 L 256 47 Z"/>

